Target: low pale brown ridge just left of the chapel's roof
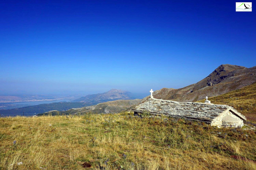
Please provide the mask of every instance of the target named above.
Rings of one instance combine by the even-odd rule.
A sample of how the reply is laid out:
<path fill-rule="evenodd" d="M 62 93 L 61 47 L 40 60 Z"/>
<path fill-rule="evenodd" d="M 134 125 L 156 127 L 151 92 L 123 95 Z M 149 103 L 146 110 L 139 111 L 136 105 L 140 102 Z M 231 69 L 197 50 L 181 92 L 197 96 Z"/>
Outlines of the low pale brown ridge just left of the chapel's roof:
<path fill-rule="evenodd" d="M 99 103 L 94 106 L 87 106 L 82 108 L 72 108 L 67 111 L 49 111 L 45 112 L 44 114 L 38 114 L 38 116 L 41 115 L 69 115 L 69 114 L 86 114 L 86 113 L 120 113 L 122 111 L 129 110 L 130 108 L 136 106 L 141 102 L 142 99 L 134 99 L 134 100 L 114 100 L 110 102 L 104 102 Z"/>

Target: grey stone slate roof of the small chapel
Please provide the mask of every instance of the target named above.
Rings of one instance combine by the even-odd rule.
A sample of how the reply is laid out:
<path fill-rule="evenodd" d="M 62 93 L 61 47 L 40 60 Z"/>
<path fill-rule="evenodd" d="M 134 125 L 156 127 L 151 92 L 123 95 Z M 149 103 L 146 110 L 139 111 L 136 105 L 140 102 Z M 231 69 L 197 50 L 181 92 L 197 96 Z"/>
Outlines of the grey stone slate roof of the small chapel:
<path fill-rule="evenodd" d="M 166 115 L 173 117 L 183 117 L 190 120 L 197 120 L 210 123 L 222 112 L 230 110 L 243 120 L 245 116 L 239 113 L 233 107 L 219 104 L 205 104 L 196 102 L 175 102 L 172 100 L 148 99 L 144 103 L 136 106 L 132 111 L 143 113 L 150 112 L 154 115 Z"/>

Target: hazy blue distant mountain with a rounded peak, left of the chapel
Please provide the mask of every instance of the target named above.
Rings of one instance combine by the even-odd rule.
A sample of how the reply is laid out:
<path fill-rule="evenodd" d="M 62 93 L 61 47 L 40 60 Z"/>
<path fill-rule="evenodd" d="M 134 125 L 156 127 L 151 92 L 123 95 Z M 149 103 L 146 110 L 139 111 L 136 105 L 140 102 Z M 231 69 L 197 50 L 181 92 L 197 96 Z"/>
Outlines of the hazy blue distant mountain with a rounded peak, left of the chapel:
<path fill-rule="evenodd" d="M 118 90 L 118 89 L 111 89 L 105 93 L 98 93 L 98 94 L 90 94 L 79 99 L 73 100 L 73 102 L 86 102 L 86 103 L 102 103 L 108 102 L 112 100 L 130 100 L 134 99 L 131 96 L 131 92 Z"/>

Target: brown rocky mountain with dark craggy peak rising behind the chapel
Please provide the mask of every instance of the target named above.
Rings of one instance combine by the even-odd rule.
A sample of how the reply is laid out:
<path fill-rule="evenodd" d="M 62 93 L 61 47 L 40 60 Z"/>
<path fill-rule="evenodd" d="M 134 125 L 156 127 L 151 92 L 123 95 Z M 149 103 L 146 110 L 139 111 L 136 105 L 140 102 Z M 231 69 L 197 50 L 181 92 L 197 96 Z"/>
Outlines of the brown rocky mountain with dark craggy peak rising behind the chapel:
<path fill-rule="evenodd" d="M 174 100 L 178 102 L 195 102 L 206 96 L 218 96 L 240 89 L 256 82 L 256 66 L 246 68 L 230 64 L 223 64 L 216 68 L 203 80 L 187 87 L 174 89 L 162 88 L 154 91 L 156 99 Z M 145 101 L 149 96 L 142 100 Z"/>

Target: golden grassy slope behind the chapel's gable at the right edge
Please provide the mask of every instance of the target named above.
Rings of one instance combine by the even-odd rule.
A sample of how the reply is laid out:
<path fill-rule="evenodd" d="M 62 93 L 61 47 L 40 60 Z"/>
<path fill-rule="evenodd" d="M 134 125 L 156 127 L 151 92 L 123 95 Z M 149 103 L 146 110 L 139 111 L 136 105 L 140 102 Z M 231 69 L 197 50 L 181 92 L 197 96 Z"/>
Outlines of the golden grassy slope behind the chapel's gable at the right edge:
<path fill-rule="evenodd" d="M 205 99 L 197 102 L 204 102 Z M 256 82 L 223 95 L 208 98 L 214 104 L 227 104 L 236 108 L 246 118 L 256 121 Z"/>

